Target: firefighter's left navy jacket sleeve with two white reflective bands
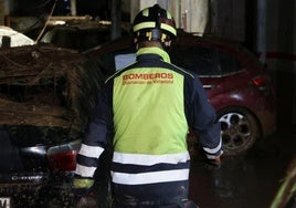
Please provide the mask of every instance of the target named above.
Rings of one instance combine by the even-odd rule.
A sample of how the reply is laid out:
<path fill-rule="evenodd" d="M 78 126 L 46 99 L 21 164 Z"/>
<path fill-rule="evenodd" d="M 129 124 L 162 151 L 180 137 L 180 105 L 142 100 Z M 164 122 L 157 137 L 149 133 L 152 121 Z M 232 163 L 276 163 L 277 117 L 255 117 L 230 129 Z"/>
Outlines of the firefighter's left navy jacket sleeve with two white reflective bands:
<path fill-rule="evenodd" d="M 75 176 L 93 178 L 99 167 L 99 156 L 105 150 L 113 133 L 112 85 L 105 84 L 94 107 L 81 149 L 76 157 Z"/>

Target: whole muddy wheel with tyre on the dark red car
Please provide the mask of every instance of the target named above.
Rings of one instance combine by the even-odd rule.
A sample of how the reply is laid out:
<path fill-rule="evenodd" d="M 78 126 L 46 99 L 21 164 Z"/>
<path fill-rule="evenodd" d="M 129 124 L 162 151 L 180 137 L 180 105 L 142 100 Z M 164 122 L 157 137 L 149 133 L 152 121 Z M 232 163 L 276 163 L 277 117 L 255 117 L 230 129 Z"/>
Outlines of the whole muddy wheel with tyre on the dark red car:
<path fill-rule="evenodd" d="M 249 150 L 260 137 L 255 117 L 243 108 L 228 108 L 218 113 L 225 155 Z"/>

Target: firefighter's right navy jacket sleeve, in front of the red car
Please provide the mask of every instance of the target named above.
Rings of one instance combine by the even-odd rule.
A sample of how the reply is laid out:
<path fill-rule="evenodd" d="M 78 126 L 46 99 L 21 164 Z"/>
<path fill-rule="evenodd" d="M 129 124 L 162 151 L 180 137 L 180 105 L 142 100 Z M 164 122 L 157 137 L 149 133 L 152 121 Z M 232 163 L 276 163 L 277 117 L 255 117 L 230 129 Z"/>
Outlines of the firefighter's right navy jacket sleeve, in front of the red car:
<path fill-rule="evenodd" d="M 188 91 L 186 114 L 189 127 L 198 136 L 199 143 L 209 159 L 214 159 L 222 152 L 221 127 L 216 121 L 215 110 L 198 77 L 190 79 L 186 84 Z"/>

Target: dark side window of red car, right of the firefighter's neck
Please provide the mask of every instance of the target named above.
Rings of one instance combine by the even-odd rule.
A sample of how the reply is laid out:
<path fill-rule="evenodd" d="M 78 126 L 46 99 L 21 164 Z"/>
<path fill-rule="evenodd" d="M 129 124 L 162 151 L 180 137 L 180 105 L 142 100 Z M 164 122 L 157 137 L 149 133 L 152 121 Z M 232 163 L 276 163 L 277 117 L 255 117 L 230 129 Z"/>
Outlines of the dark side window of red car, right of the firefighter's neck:
<path fill-rule="evenodd" d="M 222 75 L 242 69 L 233 55 L 211 48 L 178 45 L 170 56 L 173 64 L 199 75 Z"/>

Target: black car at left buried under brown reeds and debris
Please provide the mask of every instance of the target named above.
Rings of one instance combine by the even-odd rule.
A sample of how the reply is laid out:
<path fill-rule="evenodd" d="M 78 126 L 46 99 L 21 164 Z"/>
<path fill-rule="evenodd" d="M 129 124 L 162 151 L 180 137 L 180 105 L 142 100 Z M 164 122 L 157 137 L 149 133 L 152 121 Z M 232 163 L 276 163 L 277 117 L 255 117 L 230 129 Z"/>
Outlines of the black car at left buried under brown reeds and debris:
<path fill-rule="evenodd" d="M 102 73 L 51 45 L 1 49 L 0 58 L 0 207 L 66 207 Z"/>

